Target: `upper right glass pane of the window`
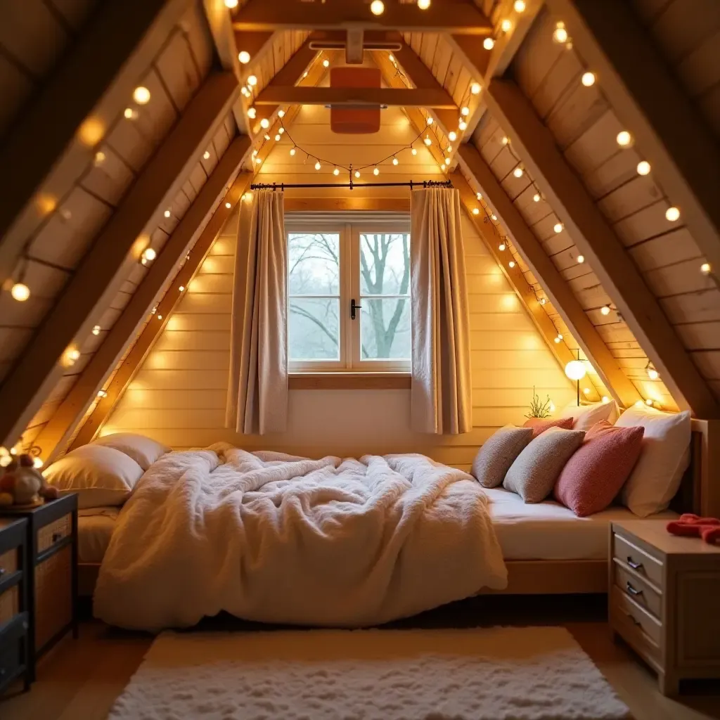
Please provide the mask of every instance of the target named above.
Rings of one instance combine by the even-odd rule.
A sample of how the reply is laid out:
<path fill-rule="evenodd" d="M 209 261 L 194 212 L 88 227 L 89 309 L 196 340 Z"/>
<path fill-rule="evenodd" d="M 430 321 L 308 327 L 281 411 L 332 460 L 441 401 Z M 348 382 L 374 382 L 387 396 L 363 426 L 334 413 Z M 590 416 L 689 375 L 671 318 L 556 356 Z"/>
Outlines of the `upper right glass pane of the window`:
<path fill-rule="evenodd" d="M 362 294 L 410 292 L 410 235 L 360 233 L 360 283 Z"/>

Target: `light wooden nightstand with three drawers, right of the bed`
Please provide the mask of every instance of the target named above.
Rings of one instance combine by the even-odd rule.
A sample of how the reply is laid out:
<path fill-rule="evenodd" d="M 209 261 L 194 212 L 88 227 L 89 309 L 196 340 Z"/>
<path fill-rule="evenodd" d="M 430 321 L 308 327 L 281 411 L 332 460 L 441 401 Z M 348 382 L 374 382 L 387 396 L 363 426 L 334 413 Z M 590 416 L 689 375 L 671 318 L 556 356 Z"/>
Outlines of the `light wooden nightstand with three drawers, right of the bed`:
<path fill-rule="evenodd" d="M 662 520 L 611 523 L 609 621 L 658 674 L 720 678 L 720 546 L 670 535 Z"/>

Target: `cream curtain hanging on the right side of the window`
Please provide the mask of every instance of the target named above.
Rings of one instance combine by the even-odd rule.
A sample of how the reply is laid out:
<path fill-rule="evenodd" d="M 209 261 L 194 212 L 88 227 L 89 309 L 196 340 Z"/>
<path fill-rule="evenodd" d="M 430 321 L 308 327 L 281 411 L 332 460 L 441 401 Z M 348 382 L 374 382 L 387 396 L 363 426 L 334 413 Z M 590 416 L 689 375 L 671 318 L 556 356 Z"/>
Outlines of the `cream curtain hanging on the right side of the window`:
<path fill-rule="evenodd" d="M 413 192 L 413 430 L 456 435 L 472 428 L 470 320 L 455 189 Z"/>

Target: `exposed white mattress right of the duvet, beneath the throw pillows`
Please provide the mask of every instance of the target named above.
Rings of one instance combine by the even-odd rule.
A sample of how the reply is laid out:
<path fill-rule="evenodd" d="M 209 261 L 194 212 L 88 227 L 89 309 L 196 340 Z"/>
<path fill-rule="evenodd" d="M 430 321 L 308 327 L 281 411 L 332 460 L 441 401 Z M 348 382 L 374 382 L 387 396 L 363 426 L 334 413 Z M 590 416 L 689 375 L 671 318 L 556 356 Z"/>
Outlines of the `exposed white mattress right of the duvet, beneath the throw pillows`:
<path fill-rule="evenodd" d="M 578 518 L 552 500 L 526 504 L 520 495 L 500 487 L 486 492 L 492 501 L 492 524 L 506 560 L 606 560 L 611 521 L 637 519 L 627 508 L 617 506 Z M 670 511 L 650 516 L 675 517 Z"/>

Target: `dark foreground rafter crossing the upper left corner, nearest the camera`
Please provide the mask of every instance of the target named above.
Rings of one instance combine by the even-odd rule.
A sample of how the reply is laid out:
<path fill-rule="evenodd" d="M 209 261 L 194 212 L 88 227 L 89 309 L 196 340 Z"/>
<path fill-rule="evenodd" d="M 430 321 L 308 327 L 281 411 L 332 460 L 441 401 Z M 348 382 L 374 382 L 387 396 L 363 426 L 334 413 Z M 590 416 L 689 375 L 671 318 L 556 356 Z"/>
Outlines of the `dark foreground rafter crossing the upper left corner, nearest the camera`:
<path fill-rule="evenodd" d="M 68 163 L 88 166 L 96 143 L 127 105 L 138 77 L 189 4 L 102 4 L 6 135 L 0 145 L 0 284 L 40 222 L 35 193 L 40 186 L 49 197 L 69 192 L 76 175 L 68 172 Z"/>

